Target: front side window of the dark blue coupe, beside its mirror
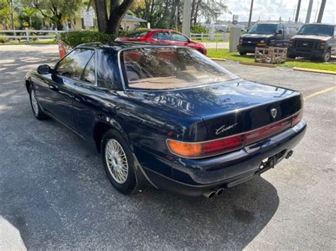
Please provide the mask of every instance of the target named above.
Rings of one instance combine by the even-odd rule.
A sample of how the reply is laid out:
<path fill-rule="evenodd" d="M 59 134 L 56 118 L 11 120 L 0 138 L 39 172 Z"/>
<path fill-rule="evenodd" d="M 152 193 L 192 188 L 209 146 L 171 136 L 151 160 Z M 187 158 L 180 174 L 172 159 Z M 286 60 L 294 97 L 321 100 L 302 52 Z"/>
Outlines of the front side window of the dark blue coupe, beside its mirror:
<path fill-rule="evenodd" d="M 57 64 L 56 74 L 79 81 L 93 54 L 93 49 L 74 49 Z"/>

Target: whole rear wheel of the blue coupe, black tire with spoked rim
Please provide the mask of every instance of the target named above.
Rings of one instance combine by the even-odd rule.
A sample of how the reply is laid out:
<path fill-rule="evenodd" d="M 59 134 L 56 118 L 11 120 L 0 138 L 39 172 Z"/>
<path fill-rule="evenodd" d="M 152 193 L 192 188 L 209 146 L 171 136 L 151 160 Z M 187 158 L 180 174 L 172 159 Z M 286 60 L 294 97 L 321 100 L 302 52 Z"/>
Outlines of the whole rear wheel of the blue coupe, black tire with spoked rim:
<path fill-rule="evenodd" d="M 137 187 L 133 154 L 127 141 L 114 129 L 101 141 L 103 167 L 113 187 L 122 194 L 131 194 Z"/>

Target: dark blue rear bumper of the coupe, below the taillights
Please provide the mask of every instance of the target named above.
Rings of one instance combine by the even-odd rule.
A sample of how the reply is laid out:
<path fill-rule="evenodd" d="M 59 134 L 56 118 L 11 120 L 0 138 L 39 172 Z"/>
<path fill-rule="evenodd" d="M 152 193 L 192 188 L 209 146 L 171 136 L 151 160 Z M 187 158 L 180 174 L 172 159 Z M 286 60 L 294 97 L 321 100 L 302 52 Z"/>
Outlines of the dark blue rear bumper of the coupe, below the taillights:
<path fill-rule="evenodd" d="M 183 159 L 173 163 L 172 177 L 144 168 L 147 178 L 159 189 L 186 196 L 200 196 L 210 189 L 233 187 L 259 175 L 291 154 L 306 132 L 306 122 L 239 151 L 205 159 Z M 260 168 L 269 158 L 267 167 Z"/>

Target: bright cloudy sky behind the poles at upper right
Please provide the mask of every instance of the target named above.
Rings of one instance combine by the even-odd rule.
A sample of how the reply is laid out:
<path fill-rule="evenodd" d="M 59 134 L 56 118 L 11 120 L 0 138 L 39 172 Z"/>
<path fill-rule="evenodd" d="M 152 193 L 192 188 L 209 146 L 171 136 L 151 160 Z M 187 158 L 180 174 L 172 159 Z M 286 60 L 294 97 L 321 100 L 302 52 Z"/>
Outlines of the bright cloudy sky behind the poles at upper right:
<path fill-rule="evenodd" d="M 251 0 L 224 0 L 225 4 L 232 14 L 238 15 L 238 21 L 248 21 Z M 318 9 L 318 2 L 320 0 L 313 0 L 313 11 L 310 16 L 310 23 L 313 23 L 315 18 L 316 10 Z M 308 9 L 309 0 L 301 0 L 300 15 L 301 21 L 304 23 L 306 21 L 306 14 Z M 254 0 L 252 21 L 257 21 L 260 17 L 261 21 L 267 21 L 269 18 L 271 20 L 288 21 L 291 18 L 293 21 L 294 12 L 296 10 L 296 5 L 298 0 Z M 218 19 L 220 20 L 232 20 L 232 14 L 225 13 L 221 15 Z M 317 16 L 316 16 L 317 18 Z M 323 14 L 323 23 L 335 23 L 336 22 L 336 0 L 327 0 L 325 4 L 325 11 Z"/>

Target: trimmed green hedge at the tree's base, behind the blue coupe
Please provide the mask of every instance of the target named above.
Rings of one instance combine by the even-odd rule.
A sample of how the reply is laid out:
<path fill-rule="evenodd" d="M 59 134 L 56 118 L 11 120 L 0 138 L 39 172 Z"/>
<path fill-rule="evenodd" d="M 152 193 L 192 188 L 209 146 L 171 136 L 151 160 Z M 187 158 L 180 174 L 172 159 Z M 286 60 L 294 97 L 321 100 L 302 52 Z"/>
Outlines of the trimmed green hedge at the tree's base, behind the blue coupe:
<path fill-rule="evenodd" d="M 70 31 L 69 33 L 60 34 L 63 42 L 72 48 L 87 42 L 113 42 L 116 39 L 114 35 L 89 30 Z"/>

